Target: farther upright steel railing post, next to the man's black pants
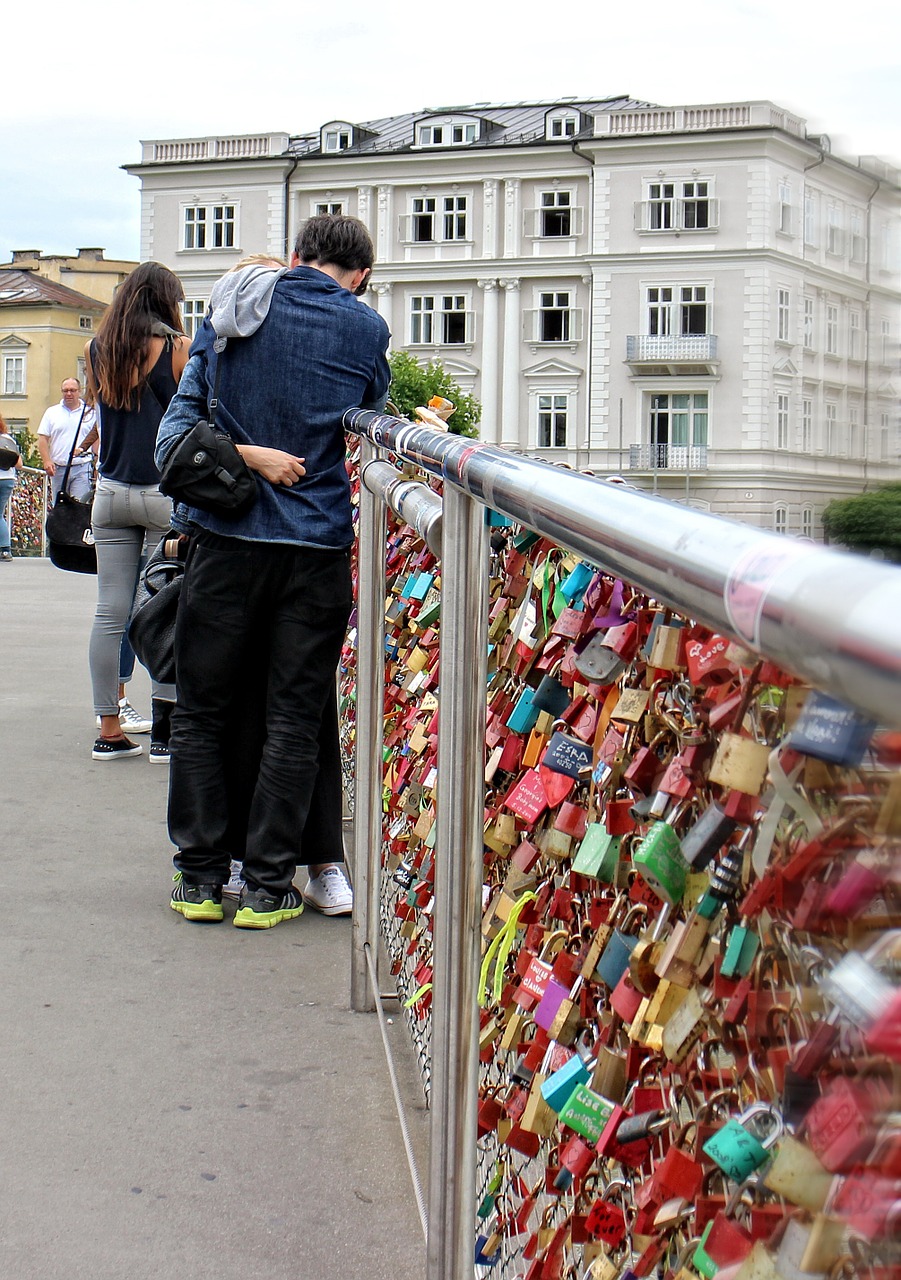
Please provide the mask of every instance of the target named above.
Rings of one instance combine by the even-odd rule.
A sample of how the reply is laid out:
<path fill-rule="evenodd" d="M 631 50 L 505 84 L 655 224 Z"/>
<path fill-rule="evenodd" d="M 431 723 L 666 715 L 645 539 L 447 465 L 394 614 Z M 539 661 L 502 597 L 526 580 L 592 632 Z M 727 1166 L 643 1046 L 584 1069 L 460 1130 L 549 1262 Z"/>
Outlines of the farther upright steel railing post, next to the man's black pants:
<path fill-rule="evenodd" d="M 360 470 L 376 457 L 361 442 Z M 379 888 L 381 872 L 381 741 L 385 696 L 385 504 L 360 483 L 357 543 L 357 709 L 353 753 L 353 931 L 351 1007 L 375 1009 L 378 991 L 366 961 L 366 948 L 378 972 Z"/>

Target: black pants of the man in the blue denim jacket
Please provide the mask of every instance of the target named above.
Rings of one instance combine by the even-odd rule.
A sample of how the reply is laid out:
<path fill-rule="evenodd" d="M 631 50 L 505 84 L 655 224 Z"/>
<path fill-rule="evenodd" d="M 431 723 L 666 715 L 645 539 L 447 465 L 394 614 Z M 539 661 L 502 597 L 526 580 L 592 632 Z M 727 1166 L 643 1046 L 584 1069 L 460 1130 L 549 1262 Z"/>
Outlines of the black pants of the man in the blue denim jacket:
<path fill-rule="evenodd" d="M 198 532 L 175 632 L 169 776 L 169 836 L 189 883 L 227 879 L 242 831 L 251 887 L 283 892 L 303 858 L 335 860 L 305 827 L 320 767 L 333 778 L 325 813 L 335 826 L 331 708 L 351 605 L 347 550 Z"/>

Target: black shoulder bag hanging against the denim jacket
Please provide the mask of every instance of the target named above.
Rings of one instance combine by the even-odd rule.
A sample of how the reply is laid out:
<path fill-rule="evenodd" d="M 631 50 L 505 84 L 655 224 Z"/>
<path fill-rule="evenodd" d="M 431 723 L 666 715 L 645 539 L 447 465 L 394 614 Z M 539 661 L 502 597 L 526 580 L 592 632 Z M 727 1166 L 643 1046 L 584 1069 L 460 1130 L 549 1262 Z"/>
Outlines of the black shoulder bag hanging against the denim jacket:
<path fill-rule="evenodd" d="M 209 420 L 201 419 L 179 436 L 163 465 L 160 489 L 175 502 L 209 511 L 214 516 L 237 520 L 256 502 L 257 483 L 232 436 L 216 429 L 219 375 L 225 343 L 225 338 L 216 338 L 212 344 L 219 358 Z"/>

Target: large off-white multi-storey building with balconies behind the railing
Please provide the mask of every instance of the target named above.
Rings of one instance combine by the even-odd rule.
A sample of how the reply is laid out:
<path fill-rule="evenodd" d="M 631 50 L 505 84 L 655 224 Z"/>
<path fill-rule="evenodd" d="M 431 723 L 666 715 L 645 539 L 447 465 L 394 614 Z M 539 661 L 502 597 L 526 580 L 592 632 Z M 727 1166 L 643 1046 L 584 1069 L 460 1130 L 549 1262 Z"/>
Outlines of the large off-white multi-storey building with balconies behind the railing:
<path fill-rule="evenodd" d="M 477 105 L 145 142 L 142 259 L 186 319 L 305 219 L 370 228 L 392 344 L 484 440 L 820 538 L 898 477 L 898 174 L 769 102 Z"/>

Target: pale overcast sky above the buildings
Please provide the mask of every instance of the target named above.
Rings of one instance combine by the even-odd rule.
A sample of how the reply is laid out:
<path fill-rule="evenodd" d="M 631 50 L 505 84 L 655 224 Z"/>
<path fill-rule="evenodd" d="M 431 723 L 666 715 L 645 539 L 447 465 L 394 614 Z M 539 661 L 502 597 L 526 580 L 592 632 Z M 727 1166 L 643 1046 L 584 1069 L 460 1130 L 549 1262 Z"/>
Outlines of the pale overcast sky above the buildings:
<path fill-rule="evenodd" d="M 0 261 L 140 252 L 141 140 L 284 129 L 468 102 L 768 99 L 834 152 L 901 160 L 901 12 L 886 0 L 131 6 L 4 18 Z M 334 15 L 334 18 L 333 18 Z"/>

